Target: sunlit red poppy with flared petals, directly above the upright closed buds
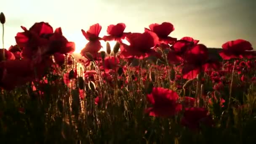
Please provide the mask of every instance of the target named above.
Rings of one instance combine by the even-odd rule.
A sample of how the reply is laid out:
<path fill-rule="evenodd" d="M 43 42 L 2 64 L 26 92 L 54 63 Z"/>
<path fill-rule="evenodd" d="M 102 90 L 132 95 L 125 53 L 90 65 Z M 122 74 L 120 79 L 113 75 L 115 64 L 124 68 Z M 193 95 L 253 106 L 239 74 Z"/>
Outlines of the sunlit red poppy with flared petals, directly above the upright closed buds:
<path fill-rule="evenodd" d="M 123 32 L 125 30 L 124 23 L 118 23 L 117 25 L 111 24 L 107 27 L 108 36 L 104 36 L 102 39 L 105 41 L 116 40 L 121 42 L 131 32 Z"/>

